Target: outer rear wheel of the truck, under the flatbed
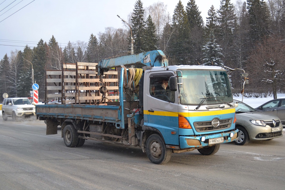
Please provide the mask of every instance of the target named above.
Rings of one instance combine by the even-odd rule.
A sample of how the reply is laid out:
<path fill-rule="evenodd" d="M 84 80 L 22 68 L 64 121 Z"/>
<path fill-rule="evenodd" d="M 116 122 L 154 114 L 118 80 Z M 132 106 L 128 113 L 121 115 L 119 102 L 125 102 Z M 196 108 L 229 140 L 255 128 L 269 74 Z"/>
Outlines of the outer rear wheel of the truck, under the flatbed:
<path fill-rule="evenodd" d="M 63 140 L 67 147 L 74 147 L 78 143 L 78 133 L 73 125 L 66 125 L 63 130 Z"/>

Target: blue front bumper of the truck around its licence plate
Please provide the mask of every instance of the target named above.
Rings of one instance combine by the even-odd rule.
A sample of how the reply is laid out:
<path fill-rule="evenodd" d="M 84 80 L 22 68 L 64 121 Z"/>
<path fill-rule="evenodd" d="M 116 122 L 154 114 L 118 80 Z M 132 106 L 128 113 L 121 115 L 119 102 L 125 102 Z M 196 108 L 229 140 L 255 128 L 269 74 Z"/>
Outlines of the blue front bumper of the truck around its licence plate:
<path fill-rule="evenodd" d="M 183 148 L 198 148 L 203 146 L 209 146 L 209 139 L 211 138 L 219 138 L 224 137 L 224 142 L 232 142 L 238 137 L 239 130 L 232 130 L 229 132 L 218 133 L 218 134 L 210 134 L 210 135 L 203 135 L 203 136 L 180 136 L 180 149 Z M 233 137 L 230 137 L 230 134 L 233 133 Z M 205 141 L 201 141 L 202 137 L 205 137 Z"/>

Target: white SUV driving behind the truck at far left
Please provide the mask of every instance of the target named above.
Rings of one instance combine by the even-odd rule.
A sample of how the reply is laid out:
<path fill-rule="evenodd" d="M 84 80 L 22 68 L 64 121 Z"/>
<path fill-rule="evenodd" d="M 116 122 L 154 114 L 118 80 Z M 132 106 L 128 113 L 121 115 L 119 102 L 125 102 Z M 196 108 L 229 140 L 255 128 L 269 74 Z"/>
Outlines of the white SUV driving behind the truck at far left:
<path fill-rule="evenodd" d="M 36 107 L 28 98 L 5 98 L 2 105 L 2 117 L 5 121 L 8 117 L 16 120 L 19 117 L 36 116 L 35 111 Z"/>

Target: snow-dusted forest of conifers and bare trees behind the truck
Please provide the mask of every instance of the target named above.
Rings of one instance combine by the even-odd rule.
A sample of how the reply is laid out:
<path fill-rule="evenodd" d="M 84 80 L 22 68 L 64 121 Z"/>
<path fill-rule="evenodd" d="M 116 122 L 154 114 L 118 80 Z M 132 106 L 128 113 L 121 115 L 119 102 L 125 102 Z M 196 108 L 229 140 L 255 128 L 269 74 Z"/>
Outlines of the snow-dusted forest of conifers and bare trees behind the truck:
<path fill-rule="evenodd" d="M 221 0 L 209 7 L 203 21 L 195 0 L 186 7 L 179 1 L 173 15 L 163 2 L 143 7 L 135 2 L 127 22 L 132 27 L 134 52 L 154 49 L 169 56 L 170 65 L 210 65 L 243 68 L 249 73 L 246 96 L 266 97 L 285 93 L 285 0 Z M 130 54 L 130 30 L 107 27 L 89 41 L 60 47 L 55 36 L 39 40 L 34 48 L 11 51 L 0 62 L 0 94 L 29 97 L 34 80 L 44 98 L 45 70 L 61 70 L 62 62 L 99 62 L 102 58 Z M 241 91 L 239 73 L 232 73 L 233 93 Z M 2 98 L 2 96 L 0 97 Z"/>

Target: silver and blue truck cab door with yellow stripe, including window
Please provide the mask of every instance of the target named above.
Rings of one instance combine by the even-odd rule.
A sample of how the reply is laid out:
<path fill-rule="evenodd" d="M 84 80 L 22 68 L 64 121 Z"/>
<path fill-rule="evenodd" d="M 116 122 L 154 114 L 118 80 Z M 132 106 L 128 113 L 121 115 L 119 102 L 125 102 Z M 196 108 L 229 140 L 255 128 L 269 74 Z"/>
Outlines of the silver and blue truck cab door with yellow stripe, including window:
<path fill-rule="evenodd" d="M 179 145 L 177 92 L 170 91 L 169 77 L 174 73 L 148 73 L 147 109 L 144 111 L 148 127 L 157 129 L 166 144 Z"/>

